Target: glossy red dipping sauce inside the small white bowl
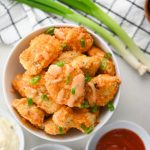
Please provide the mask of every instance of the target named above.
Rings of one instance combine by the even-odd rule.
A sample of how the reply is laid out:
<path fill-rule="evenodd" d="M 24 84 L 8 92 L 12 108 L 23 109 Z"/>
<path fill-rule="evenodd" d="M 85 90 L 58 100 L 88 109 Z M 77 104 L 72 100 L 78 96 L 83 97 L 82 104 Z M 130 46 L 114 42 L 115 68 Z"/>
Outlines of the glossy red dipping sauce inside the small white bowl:
<path fill-rule="evenodd" d="M 104 134 L 96 150 L 146 150 L 141 138 L 128 129 L 115 129 Z"/>

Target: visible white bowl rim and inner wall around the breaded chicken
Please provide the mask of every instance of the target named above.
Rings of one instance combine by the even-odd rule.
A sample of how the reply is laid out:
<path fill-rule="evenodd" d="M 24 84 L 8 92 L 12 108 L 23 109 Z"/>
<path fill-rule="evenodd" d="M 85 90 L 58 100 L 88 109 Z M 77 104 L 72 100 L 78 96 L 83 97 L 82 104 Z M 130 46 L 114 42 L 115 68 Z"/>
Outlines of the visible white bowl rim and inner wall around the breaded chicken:
<path fill-rule="evenodd" d="M 47 27 L 40 28 L 32 33 L 30 33 L 28 36 L 26 36 L 24 39 L 22 39 L 11 51 L 8 59 L 6 60 L 5 64 L 5 70 L 3 74 L 3 92 L 5 96 L 5 101 L 7 103 L 7 106 L 9 107 L 9 110 L 13 114 L 13 116 L 18 120 L 18 122 L 30 133 L 42 138 L 46 139 L 49 141 L 55 141 L 55 142 L 70 142 L 74 140 L 79 140 L 84 137 L 87 137 L 87 135 L 79 132 L 69 132 L 69 134 L 66 134 L 65 136 L 49 136 L 46 135 L 43 131 L 40 130 L 33 130 L 32 128 L 29 128 L 28 125 L 23 124 L 19 116 L 16 114 L 14 109 L 11 106 L 11 102 L 13 99 L 17 97 L 15 93 L 10 92 L 11 91 L 11 82 L 16 76 L 16 74 L 21 73 L 24 71 L 23 67 L 19 63 L 19 55 L 20 53 L 29 46 L 30 41 L 39 35 L 40 33 L 43 33 L 48 27 L 74 27 L 75 25 L 70 25 L 70 24 L 57 24 L 57 25 L 51 25 Z M 95 33 L 92 31 L 88 30 L 88 32 L 94 37 L 95 43 L 97 46 L 101 47 L 107 52 L 112 53 L 111 49 L 108 47 L 108 45 L 103 41 L 103 39 L 99 36 L 97 36 Z M 115 59 L 115 56 L 112 53 L 112 58 L 116 66 L 116 72 L 117 75 L 120 75 L 119 73 L 119 68 Z M 116 108 L 119 102 L 119 96 L 120 96 L 120 90 L 118 91 L 115 99 L 114 99 L 114 107 Z M 110 111 L 104 111 L 103 114 L 101 115 L 101 123 L 96 126 L 93 132 L 97 132 L 98 129 L 100 129 L 112 116 L 113 112 Z"/>

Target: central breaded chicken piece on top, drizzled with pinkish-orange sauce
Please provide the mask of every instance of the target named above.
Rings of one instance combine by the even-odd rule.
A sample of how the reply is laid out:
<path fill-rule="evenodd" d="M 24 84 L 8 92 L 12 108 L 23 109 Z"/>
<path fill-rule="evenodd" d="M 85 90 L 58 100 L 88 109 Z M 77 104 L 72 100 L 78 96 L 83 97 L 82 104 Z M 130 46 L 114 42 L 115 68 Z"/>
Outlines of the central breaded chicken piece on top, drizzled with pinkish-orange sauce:
<path fill-rule="evenodd" d="M 85 77 L 78 67 L 59 62 L 50 65 L 45 80 L 46 88 L 56 103 L 79 107 L 83 102 Z"/>

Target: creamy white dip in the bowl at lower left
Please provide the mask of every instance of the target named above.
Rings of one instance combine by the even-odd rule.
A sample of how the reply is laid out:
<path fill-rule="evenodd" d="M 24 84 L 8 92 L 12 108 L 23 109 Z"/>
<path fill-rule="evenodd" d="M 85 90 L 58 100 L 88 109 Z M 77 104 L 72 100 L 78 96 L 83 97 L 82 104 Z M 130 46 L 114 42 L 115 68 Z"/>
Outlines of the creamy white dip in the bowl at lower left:
<path fill-rule="evenodd" d="M 19 138 L 12 123 L 0 117 L 0 150 L 19 150 Z"/>

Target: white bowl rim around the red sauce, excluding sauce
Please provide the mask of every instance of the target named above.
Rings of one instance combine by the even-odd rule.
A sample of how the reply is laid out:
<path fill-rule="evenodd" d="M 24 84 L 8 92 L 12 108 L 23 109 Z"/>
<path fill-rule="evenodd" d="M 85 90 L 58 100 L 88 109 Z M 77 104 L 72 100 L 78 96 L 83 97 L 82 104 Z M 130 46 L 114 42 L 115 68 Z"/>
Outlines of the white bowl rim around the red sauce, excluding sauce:
<path fill-rule="evenodd" d="M 150 136 L 148 133 L 139 125 L 130 122 L 130 121 L 116 121 L 115 123 L 106 125 L 99 129 L 88 141 L 86 145 L 86 150 L 96 150 L 96 145 L 99 141 L 99 139 L 106 134 L 107 132 L 113 130 L 113 129 L 129 129 L 133 132 L 135 132 L 143 141 L 146 150 L 150 149 Z"/>

